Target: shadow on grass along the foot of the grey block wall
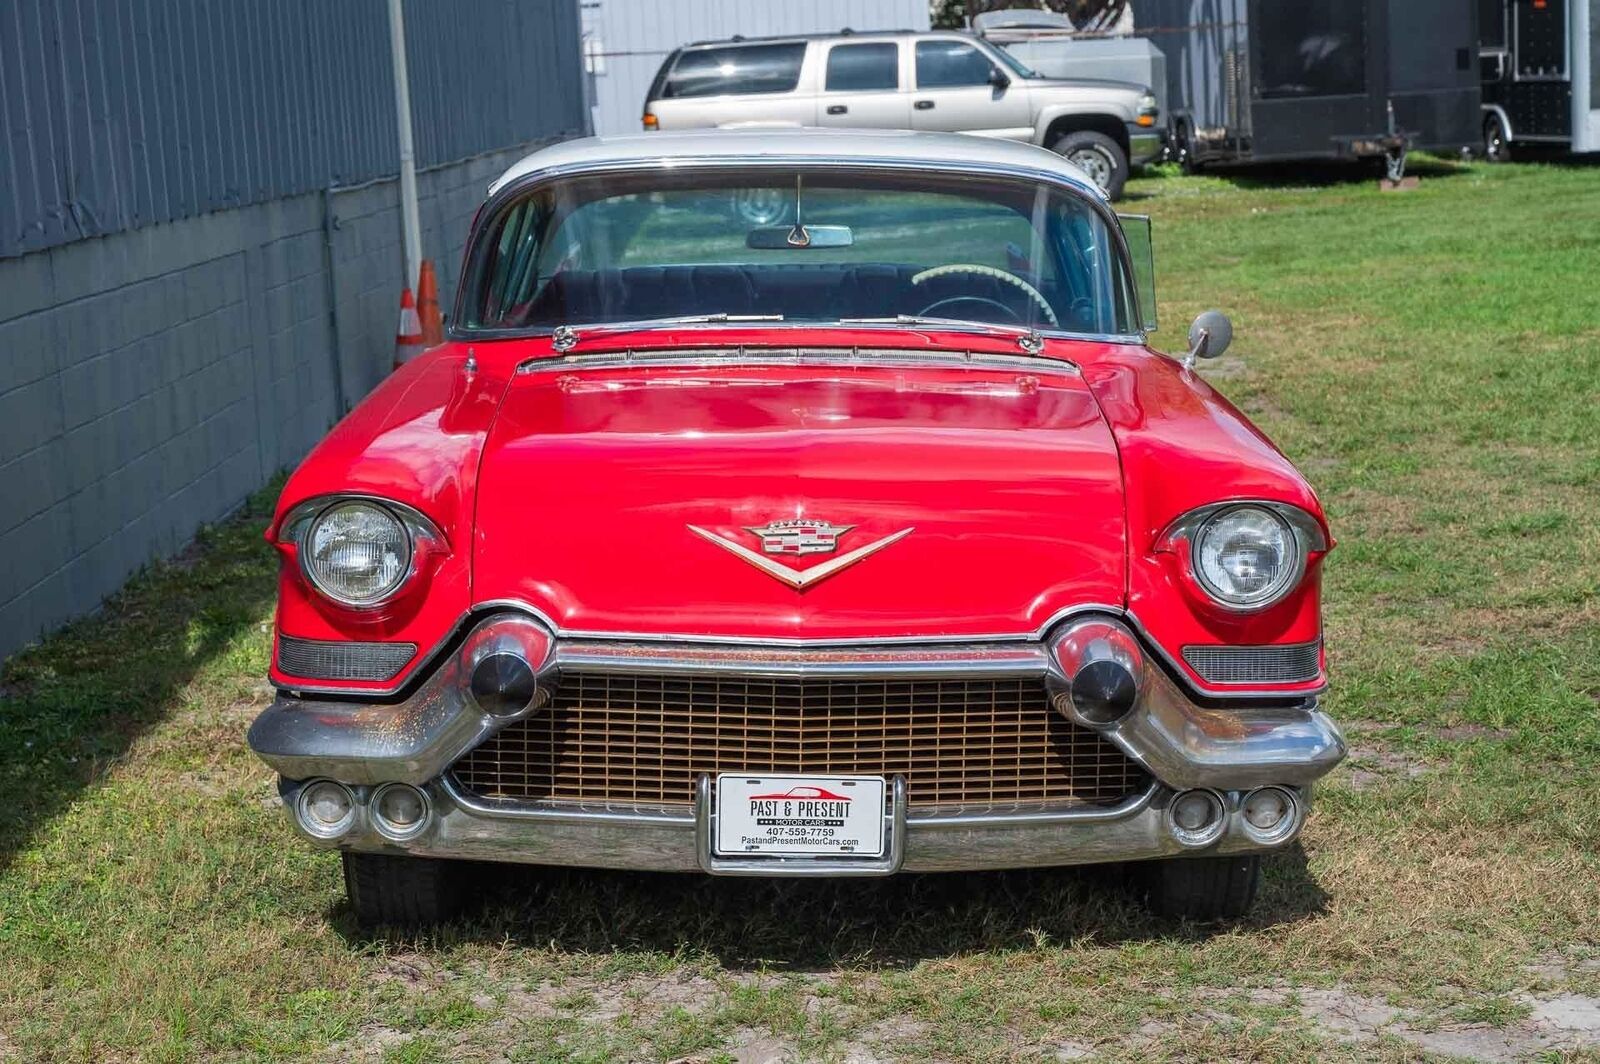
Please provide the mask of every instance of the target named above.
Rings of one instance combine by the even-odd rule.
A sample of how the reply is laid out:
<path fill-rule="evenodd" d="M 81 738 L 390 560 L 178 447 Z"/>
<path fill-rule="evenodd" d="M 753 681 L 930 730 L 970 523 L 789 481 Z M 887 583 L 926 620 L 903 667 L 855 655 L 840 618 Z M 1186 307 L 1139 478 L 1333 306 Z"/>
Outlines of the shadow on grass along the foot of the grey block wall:
<path fill-rule="evenodd" d="M 275 594 L 261 531 L 278 488 L 262 488 L 178 560 L 141 571 L 98 613 L 5 662 L 0 872 L 261 622 Z"/>

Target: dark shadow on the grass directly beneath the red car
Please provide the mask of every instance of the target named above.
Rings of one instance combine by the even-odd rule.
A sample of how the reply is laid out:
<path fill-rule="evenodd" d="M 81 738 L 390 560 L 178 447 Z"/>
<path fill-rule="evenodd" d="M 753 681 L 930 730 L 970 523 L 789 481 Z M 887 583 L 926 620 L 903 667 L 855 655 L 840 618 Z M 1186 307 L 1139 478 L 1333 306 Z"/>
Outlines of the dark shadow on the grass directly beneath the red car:
<path fill-rule="evenodd" d="M 856 880 L 469 867 L 480 878 L 478 904 L 437 930 L 440 942 L 568 954 L 693 954 L 731 970 L 909 968 L 923 960 L 1085 936 L 1098 944 L 1202 939 L 1219 930 L 1302 920 L 1323 912 L 1328 902 L 1299 843 L 1267 858 L 1251 914 L 1219 923 L 1152 917 L 1128 886 L 1123 866 Z M 354 944 L 382 941 L 390 933 L 414 938 L 358 930 L 342 901 L 328 915 Z"/>

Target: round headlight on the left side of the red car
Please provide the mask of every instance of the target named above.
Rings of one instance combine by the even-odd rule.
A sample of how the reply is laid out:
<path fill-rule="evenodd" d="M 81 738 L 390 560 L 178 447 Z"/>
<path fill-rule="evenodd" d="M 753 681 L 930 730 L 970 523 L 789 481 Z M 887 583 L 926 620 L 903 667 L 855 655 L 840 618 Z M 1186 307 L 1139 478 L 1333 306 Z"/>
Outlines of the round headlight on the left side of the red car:
<path fill-rule="evenodd" d="M 312 520 L 301 542 L 306 576 L 347 606 L 374 606 L 411 571 L 411 536 L 376 502 L 336 502 Z"/>

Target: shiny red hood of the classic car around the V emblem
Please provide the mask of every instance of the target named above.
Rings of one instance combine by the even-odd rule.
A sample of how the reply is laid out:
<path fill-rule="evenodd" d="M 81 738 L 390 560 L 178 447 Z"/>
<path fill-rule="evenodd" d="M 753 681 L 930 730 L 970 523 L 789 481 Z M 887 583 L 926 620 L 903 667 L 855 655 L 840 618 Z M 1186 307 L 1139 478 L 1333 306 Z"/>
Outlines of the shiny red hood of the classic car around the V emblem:
<path fill-rule="evenodd" d="M 1064 365 L 536 370 L 478 475 L 474 602 L 568 630 L 1011 635 L 1123 602 L 1117 448 Z M 851 528 L 805 555 L 749 531 L 797 517 Z M 709 538 L 806 571 L 904 530 L 800 590 Z"/>

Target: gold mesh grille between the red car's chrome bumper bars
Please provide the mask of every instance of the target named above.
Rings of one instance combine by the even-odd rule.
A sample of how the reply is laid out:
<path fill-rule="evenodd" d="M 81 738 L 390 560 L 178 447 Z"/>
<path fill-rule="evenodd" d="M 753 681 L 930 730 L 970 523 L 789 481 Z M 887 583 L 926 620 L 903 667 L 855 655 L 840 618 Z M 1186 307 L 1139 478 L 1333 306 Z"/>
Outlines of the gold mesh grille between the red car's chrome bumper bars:
<path fill-rule="evenodd" d="M 720 771 L 904 774 L 912 805 L 1112 803 L 1149 784 L 1038 680 L 576 674 L 454 771 L 485 797 L 650 803 L 691 802 Z"/>

